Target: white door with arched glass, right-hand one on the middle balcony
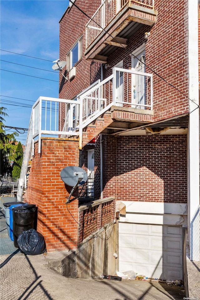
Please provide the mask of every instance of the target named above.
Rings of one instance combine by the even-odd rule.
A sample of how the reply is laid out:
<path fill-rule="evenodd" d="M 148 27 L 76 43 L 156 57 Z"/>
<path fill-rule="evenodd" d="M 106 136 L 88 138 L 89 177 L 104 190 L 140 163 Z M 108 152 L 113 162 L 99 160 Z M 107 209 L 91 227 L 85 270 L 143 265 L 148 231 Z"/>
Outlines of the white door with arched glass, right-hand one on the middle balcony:
<path fill-rule="evenodd" d="M 135 57 L 132 58 L 132 69 L 144 73 L 145 72 L 145 49 L 140 49 L 135 52 Z M 145 109 L 146 104 L 146 77 L 134 74 L 132 77 L 133 90 L 132 90 L 132 103 L 133 107 Z"/>

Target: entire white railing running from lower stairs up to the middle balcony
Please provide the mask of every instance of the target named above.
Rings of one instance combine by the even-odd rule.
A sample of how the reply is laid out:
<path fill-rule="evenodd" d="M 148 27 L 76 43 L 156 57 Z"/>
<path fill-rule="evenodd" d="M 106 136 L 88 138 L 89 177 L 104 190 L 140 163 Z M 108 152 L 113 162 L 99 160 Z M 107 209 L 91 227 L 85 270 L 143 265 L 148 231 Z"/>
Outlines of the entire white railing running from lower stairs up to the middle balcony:
<path fill-rule="evenodd" d="M 38 153 L 42 136 L 79 136 L 82 145 L 83 128 L 96 120 L 111 106 L 140 109 L 153 108 L 153 76 L 122 68 L 113 68 L 113 74 L 103 81 L 96 81 L 82 91 L 75 100 L 39 97 L 32 107 L 30 124 L 17 200 L 26 187 L 28 161 L 34 155 L 34 140 L 38 139 Z M 81 148 L 80 148 L 81 149 Z"/>

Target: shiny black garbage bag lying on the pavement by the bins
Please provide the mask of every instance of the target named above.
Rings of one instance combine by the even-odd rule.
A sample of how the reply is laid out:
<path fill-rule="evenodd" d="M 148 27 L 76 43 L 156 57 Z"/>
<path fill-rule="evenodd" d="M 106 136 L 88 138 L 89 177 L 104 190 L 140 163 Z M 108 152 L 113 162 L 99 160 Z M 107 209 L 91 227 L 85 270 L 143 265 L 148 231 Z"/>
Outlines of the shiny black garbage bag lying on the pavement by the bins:
<path fill-rule="evenodd" d="M 46 251 L 44 237 L 35 229 L 28 229 L 19 234 L 17 244 L 21 252 L 27 255 L 38 255 Z"/>

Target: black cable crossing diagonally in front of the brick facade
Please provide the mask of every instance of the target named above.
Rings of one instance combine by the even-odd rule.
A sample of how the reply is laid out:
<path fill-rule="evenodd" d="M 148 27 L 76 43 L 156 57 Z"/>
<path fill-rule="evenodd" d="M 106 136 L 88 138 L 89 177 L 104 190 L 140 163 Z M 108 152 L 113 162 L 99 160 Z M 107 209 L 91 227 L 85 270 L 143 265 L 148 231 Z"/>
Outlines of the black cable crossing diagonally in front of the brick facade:
<path fill-rule="evenodd" d="M 159 78 L 161 78 L 163 81 L 165 81 L 169 86 L 172 86 L 175 90 L 177 90 L 180 94 L 182 94 L 183 96 L 185 96 L 188 100 L 192 101 L 194 104 L 197 105 L 197 107 L 200 107 L 195 101 L 193 101 L 192 99 L 190 99 L 187 95 L 185 95 L 183 92 L 181 92 L 177 87 L 173 86 L 173 84 L 169 83 L 166 79 L 164 79 L 162 76 L 160 76 L 156 71 L 154 71 L 151 67 L 149 67 L 147 64 L 145 64 L 143 61 L 141 61 L 138 57 L 136 57 L 133 53 L 131 53 L 126 47 L 124 47 L 123 44 L 121 44 L 118 40 L 115 39 L 115 37 L 113 37 L 107 30 L 105 30 L 103 27 L 101 27 L 101 25 L 99 25 L 95 20 L 93 20 L 91 17 L 89 17 L 87 15 L 87 13 L 83 12 L 83 10 L 78 7 L 72 0 L 69 0 L 69 2 L 71 2 L 76 8 L 78 8 L 78 10 L 80 12 L 82 12 L 86 17 L 88 17 L 90 20 L 92 20 L 95 24 L 97 24 L 105 33 L 107 33 L 110 37 L 112 37 L 119 45 L 121 45 L 121 47 L 123 47 L 131 56 L 133 56 L 134 58 L 137 58 L 138 61 L 140 61 L 141 63 L 143 63 L 146 67 L 149 68 L 149 70 L 151 70 L 156 76 L 158 76 Z"/>

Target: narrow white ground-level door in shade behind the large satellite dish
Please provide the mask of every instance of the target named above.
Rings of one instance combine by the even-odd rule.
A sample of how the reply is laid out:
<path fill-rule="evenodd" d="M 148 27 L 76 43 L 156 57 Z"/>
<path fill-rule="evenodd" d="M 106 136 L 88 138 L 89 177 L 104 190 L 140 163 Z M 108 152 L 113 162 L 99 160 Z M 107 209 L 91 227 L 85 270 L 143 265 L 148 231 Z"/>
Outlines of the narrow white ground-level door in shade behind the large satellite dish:
<path fill-rule="evenodd" d="M 87 195 L 94 197 L 94 149 L 88 150 L 88 192 Z"/>

